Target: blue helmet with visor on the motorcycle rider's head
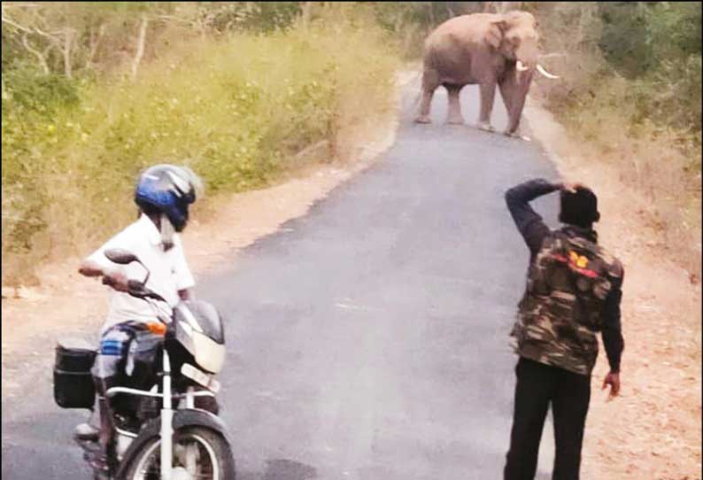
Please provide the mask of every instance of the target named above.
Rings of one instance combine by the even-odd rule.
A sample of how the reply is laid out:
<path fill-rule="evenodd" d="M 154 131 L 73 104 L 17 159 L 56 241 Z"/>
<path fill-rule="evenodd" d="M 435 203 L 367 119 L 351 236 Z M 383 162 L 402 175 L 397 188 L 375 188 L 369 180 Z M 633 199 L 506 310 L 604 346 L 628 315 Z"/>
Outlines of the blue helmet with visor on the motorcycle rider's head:
<path fill-rule="evenodd" d="M 196 201 L 200 179 L 187 166 L 147 168 L 136 182 L 135 203 L 145 213 L 165 213 L 178 232 L 188 222 L 188 205 Z"/>

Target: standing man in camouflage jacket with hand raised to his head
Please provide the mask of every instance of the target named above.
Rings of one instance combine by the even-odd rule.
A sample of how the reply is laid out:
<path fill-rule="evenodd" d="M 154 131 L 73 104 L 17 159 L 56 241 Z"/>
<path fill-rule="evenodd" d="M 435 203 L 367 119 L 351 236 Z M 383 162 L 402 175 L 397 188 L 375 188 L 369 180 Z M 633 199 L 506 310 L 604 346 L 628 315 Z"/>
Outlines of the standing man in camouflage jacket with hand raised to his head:
<path fill-rule="evenodd" d="M 559 221 L 550 230 L 529 202 L 560 191 Z M 598 244 L 597 198 L 582 185 L 542 179 L 506 192 L 508 210 L 529 247 L 525 294 L 511 340 L 515 368 L 513 429 L 505 480 L 533 480 L 545 416 L 550 404 L 556 453 L 553 480 L 578 480 L 583 426 L 591 399 L 591 370 L 603 338 L 610 373 L 603 388 L 620 390 L 620 325 L 623 269 Z"/>

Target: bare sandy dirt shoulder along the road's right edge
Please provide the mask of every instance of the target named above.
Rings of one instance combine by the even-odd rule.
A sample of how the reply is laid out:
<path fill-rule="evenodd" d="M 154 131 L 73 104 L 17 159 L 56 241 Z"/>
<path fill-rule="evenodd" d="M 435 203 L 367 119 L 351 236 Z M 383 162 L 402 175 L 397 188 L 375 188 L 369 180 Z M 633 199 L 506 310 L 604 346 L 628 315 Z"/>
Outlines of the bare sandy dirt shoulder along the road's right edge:
<path fill-rule="evenodd" d="M 583 446 L 585 479 L 693 480 L 701 471 L 701 290 L 670 259 L 649 221 L 651 205 L 606 162 L 586 163 L 588 145 L 533 100 L 525 116 L 560 174 L 599 195 L 600 242 L 622 260 L 622 395 L 600 390 L 603 349 L 591 385 Z M 695 281 L 695 279 L 694 279 Z"/>

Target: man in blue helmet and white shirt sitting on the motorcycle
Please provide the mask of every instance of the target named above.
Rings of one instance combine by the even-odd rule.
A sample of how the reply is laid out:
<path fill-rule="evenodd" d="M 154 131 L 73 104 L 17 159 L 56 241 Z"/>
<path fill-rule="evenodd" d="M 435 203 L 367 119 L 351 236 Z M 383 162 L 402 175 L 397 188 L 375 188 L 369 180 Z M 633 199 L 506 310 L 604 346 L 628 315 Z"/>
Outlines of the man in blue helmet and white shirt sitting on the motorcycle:
<path fill-rule="evenodd" d="M 130 375 L 127 352 L 134 349 L 141 338 L 153 336 L 147 324 L 155 321 L 152 307 L 127 293 L 127 280 L 143 281 L 145 272 L 137 263 L 118 265 L 107 259 L 104 252 L 123 249 L 134 253 L 151 275 L 146 283 L 170 306 L 191 298 L 195 285 L 193 275 L 183 252 L 182 232 L 189 219 L 189 205 L 195 202 L 201 181 L 187 166 L 159 164 L 139 175 L 135 188 L 135 203 L 139 218 L 84 259 L 81 275 L 102 276 L 103 283 L 111 285 L 112 294 L 107 319 L 101 329 L 100 346 L 92 374 L 96 384 L 100 412 L 100 430 L 87 423 L 78 425 L 76 437 L 100 440 L 97 465 L 110 469 L 107 459 L 113 458 L 114 425 L 111 405 L 105 392 L 120 383 L 122 375 Z"/>

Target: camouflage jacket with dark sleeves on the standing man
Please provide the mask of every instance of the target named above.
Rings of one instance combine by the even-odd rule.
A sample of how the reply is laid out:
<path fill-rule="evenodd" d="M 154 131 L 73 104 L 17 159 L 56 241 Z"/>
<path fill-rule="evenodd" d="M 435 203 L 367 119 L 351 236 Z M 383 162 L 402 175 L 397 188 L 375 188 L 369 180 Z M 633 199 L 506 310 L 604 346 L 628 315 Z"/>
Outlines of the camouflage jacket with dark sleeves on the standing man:
<path fill-rule="evenodd" d="M 591 375 L 601 331 L 611 370 L 618 371 L 622 265 L 598 245 L 595 231 L 575 226 L 552 231 L 531 210 L 529 200 L 557 188 L 533 181 L 506 195 L 532 253 L 511 343 L 522 357 Z"/>

